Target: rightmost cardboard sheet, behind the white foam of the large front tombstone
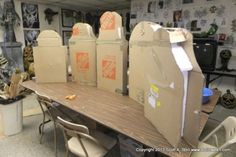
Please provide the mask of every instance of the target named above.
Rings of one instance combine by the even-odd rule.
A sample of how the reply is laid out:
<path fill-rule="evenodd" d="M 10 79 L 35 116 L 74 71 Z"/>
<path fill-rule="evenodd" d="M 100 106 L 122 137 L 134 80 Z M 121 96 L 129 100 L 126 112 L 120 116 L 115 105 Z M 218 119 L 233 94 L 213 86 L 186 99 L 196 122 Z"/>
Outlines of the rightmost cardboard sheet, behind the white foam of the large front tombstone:
<path fill-rule="evenodd" d="M 183 32 L 185 33 L 187 41 L 184 42 L 182 46 L 193 65 L 193 70 L 189 73 L 187 108 L 183 137 L 186 142 L 196 148 L 200 136 L 200 112 L 204 76 L 194 55 L 192 34 L 186 30 L 183 30 Z"/>

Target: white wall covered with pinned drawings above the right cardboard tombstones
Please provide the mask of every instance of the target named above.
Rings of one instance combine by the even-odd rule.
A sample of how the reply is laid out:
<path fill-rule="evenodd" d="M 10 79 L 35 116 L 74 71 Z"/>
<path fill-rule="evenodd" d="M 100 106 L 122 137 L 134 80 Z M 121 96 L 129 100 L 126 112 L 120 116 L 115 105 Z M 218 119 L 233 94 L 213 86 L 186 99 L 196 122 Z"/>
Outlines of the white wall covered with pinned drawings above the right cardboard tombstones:
<path fill-rule="evenodd" d="M 169 1 L 170 3 L 167 5 L 164 3 L 164 8 L 160 9 L 158 3 L 160 1 Z M 131 1 L 131 13 L 136 14 L 137 18 L 132 19 L 131 23 L 137 23 L 143 20 L 149 20 L 152 22 L 163 22 L 164 25 L 167 22 L 173 22 L 173 12 L 175 10 L 182 10 L 183 12 L 188 10 L 190 12 L 190 19 L 182 18 L 184 24 L 190 20 L 198 20 L 198 26 L 202 28 L 202 31 L 206 31 L 209 28 L 209 25 L 213 22 L 213 19 L 216 19 L 216 23 L 219 25 L 219 33 L 220 32 L 231 32 L 231 21 L 235 19 L 236 12 L 236 1 L 235 0 L 193 0 L 194 3 L 182 4 L 182 0 L 132 0 Z M 152 13 L 147 12 L 148 3 L 153 2 L 151 5 Z M 210 8 L 212 6 L 216 6 L 216 13 L 210 13 Z M 221 16 L 218 16 L 218 11 L 220 8 L 225 7 L 224 13 Z M 195 11 L 202 11 L 206 9 L 206 16 L 195 17 Z M 223 18 L 226 20 L 226 25 L 221 25 Z M 204 26 L 201 25 L 201 20 L 207 20 Z"/>

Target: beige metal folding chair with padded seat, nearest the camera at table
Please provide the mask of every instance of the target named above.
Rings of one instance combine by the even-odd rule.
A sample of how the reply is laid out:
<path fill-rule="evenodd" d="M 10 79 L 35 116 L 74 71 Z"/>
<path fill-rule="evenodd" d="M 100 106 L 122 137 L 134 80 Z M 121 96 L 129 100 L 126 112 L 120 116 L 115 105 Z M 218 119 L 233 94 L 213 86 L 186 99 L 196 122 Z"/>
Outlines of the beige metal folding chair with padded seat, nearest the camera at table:
<path fill-rule="evenodd" d="M 86 126 L 57 118 L 65 138 L 66 157 L 69 151 L 79 157 L 103 157 L 117 143 L 116 139 L 101 132 L 96 131 L 90 135 Z"/>

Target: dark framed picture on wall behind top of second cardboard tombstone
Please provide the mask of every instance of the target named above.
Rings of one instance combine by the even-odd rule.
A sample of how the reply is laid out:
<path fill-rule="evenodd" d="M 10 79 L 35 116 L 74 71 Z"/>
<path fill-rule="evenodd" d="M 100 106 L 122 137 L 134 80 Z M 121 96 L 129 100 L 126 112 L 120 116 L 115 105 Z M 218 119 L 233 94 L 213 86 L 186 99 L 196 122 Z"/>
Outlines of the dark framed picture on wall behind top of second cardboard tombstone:
<path fill-rule="evenodd" d="M 82 22 L 82 15 L 79 15 L 74 10 L 62 9 L 61 10 L 62 26 L 72 27 L 76 22 Z"/>

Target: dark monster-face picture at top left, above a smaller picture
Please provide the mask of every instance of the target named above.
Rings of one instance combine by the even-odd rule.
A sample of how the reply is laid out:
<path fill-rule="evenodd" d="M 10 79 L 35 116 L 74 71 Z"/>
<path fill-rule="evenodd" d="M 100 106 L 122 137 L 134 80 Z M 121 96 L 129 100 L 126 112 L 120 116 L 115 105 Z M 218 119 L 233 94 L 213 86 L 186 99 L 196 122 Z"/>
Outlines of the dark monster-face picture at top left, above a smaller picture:
<path fill-rule="evenodd" d="M 22 19 L 24 28 L 39 28 L 38 5 L 21 3 Z"/>

